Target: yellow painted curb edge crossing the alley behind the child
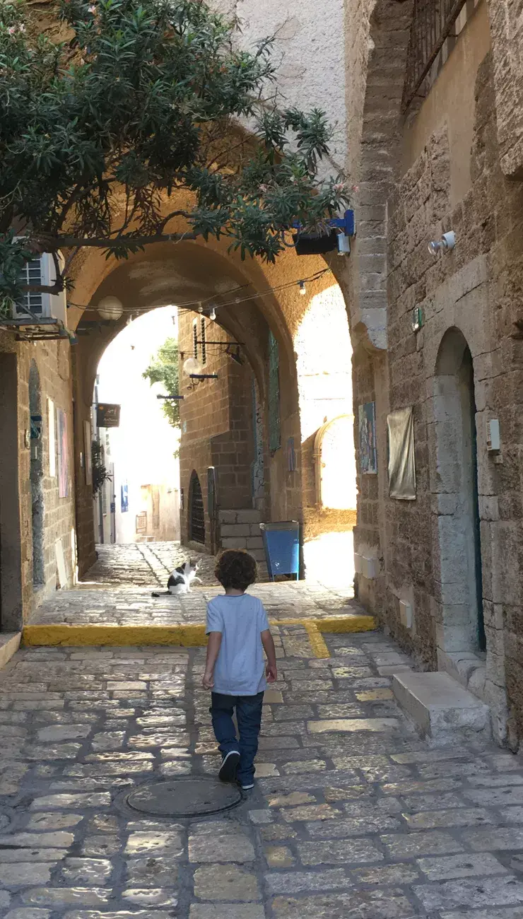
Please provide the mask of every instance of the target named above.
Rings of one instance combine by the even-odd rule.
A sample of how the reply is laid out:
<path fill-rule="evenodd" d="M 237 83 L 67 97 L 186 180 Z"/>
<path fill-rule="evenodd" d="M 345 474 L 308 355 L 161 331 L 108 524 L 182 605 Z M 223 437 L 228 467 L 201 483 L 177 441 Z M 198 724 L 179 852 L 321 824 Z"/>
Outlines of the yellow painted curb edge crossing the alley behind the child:
<path fill-rule="evenodd" d="M 316 657 L 330 657 L 322 632 L 345 634 L 374 629 L 372 616 L 333 616 L 325 619 L 279 619 L 272 625 L 301 625 L 307 630 L 311 647 Z M 26 648 L 48 647 L 136 647 L 140 645 L 164 645 L 181 648 L 202 648 L 207 644 L 204 625 L 172 626 L 70 626 L 56 625 L 26 626 L 22 633 L 22 645 Z"/>

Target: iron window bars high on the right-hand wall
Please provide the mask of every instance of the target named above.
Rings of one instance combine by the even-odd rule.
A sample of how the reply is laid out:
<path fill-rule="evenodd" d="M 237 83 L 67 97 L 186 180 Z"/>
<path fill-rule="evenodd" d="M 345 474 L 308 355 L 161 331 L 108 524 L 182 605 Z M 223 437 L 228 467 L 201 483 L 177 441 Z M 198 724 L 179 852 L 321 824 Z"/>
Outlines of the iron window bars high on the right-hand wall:
<path fill-rule="evenodd" d="M 403 110 L 419 93 L 467 0 L 415 0 L 407 53 Z"/>

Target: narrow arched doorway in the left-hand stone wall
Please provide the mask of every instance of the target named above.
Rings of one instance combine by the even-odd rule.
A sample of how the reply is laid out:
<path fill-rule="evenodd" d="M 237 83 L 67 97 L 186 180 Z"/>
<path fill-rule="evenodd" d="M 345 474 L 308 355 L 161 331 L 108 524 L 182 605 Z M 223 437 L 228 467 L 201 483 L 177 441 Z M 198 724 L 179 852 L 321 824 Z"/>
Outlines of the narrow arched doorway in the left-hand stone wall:
<path fill-rule="evenodd" d="M 45 584 L 44 550 L 43 550 L 43 450 L 42 450 L 42 417 L 40 396 L 40 374 L 36 361 L 31 361 L 29 369 L 29 414 L 31 443 L 31 506 L 33 535 L 33 586 Z"/>

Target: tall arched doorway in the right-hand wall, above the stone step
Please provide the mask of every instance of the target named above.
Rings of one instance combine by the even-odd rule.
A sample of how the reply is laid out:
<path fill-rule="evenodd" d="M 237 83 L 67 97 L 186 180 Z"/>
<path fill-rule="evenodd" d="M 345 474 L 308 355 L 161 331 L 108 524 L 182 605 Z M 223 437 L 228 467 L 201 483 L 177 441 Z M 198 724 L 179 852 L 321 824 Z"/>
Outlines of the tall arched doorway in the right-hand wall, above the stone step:
<path fill-rule="evenodd" d="M 453 328 L 439 346 L 434 380 L 438 544 L 443 652 L 485 650 L 472 355 Z"/>

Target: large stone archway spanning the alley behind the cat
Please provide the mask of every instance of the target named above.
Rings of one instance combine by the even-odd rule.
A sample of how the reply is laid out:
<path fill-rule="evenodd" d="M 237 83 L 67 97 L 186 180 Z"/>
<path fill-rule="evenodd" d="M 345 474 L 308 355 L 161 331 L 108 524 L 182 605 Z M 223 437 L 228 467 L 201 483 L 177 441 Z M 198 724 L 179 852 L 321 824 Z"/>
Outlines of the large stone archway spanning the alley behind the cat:
<path fill-rule="evenodd" d="M 78 344 L 75 346 L 74 353 L 74 405 L 77 431 L 83 430 L 85 420 L 88 421 L 90 417 L 98 360 L 108 343 L 119 334 L 130 312 L 134 315 L 142 314 L 170 304 L 177 303 L 184 306 L 189 301 L 194 305 L 187 307 L 185 312 L 190 315 L 192 323 L 194 316 L 198 315 L 196 311 L 199 301 L 208 304 L 212 299 L 217 312 L 214 327 L 221 328 L 222 332 L 233 341 L 242 342 L 244 369 L 245 371 L 249 369 L 256 380 L 259 392 L 256 412 L 253 412 L 252 408 L 250 378 L 246 398 L 249 414 L 256 414 L 258 417 L 259 429 L 267 429 L 266 371 L 269 330 L 277 337 L 281 370 L 282 444 L 285 447 L 288 438 L 294 437 L 298 447 L 300 415 L 290 325 L 292 322 L 296 323 L 297 319 L 295 308 L 293 312 L 294 303 L 299 304 L 301 308 L 305 305 L 300 296 L 299 278 L 315 275 L 318 271 L 324 270 L 323 259 L 319 256 L 309 256 L 304 262 L 299 263 L 297 256 L 292 253 L 284 255 L 276 266 L 262 266 L 254 260 L 243 263 L 239 257 L 227 255 L 222 243 L 210 241 L 205 245 L 187 242 L 176 245 L 149 246 L 144 253 L 131 256 L 125 263 L 112 261 L 112 270 L 107 272 L 107 266 L 103 267 L 101 281 L 92 283 L 94 270 L 98 267 L 100 266 L 95 253 L 88 263 L 85 262 L 80 268 L 74 293 L 76 302 L 85 301 L 85 305 L 88 304 L 88 308 L 83 313 L 77 312 L 74 317 L 79 323 Z M 284 294 L 279 297 L 279 288 L 285 286 L 285 281 L 289 276 L 292 278 L 290 286 L 294 287 L 294 290 L 285 290 Z M 329 280 L 328 283 L 332 281 Z M 314 284 L 314 289 L 322 289 L 324 284 L 325 278 L 322 278 L 319 284 Z M 276 292 L 273 292 L 273 287 Z M 258 294 L 257 291 L 263 291 L 263 293 Z M 241 296 L 239 296 L 240 293 Z M 96 305 L 108 295 L 117 296 L 123 302 L 124 313 L 116 322 L 103 324 L 100 323 L 100 317 L 97 315 Z M 253 296 L 256 301 L 249 301 L 249 297 Z M 247 298 L 246 301 L 244 298 Z M 230 360 L 230 357 L 227 357 L 227 360 Z M 205 387 L 202 393 L 203 391 L 206 391 Z M 213 436 L 220 433 L 221 430 L 216 430 Z M 96 559 L 92 496 L 84 482 L 80 458 L 82 449 L 82 444 L 76 442 L 76 508 L 80 576 Z M 180 453 L 180 461 L 181 459 L 182 454 Z M 249 456 L 249 463 L 252 459 L 253 457 Z M 296 471 L 291 474 L 287 471 L 285 448 L 279 449 L 272 457 L 267 450 L 263 460 L 265 488 L 261 482 L 261 475 L 259 475 L 260 482 L 256 489 L 256 500 L 260 513 L 263 515 L 261 505 L 267 502 L 267 495 L 270 492 L 277 495 L 281 505 L 276 511 L 278 518 L 286 519 L 287 516 L 294 517 L 298 513 L 301 515 L 301 475 L 298 464 Z M 190 473 L 192 469 L 198 471 L 204 506 L 207 502 L 207 468 L 212 465 L 215 465 L 212 457 L 206 457 L 204 462 L 192 461 L 188 466 L 187 479 L 181 482 L 188 496 Z M 258 472 L 261 472 L 261 467 Z M 252 508 L 251 471 L 247 470 L 245 475 L 248 505 L 242 502 L 241 506 Z M 218 481 L 220 482 L 219 473 Z M 187 512 L 187 506 L 186 501 L 186 511 L 183 516 Z M 187 521 L 184 521 L 182 532 L 187 533 L 187 531 Z"/>

